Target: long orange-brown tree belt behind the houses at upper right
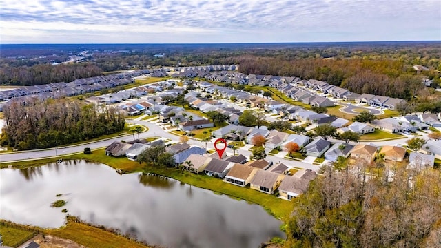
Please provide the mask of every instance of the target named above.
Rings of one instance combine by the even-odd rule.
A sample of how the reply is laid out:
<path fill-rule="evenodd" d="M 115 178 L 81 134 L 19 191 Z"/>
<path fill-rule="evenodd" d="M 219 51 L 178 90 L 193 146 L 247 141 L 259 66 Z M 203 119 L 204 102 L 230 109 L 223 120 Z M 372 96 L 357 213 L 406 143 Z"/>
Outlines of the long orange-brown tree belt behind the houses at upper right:
<path fill-rule="evenodd" d="M 358 94 L 411 99 L 424 85 L 412 66 L 397 60 L 296 59 L 280 60 L 240 56 L 239 70 L 245 74 L 298 76 L 345 87 Z M 429 73 L 429 72 L 428 72 Z M 434 77 L 434 76 L 432 76 Z"/>

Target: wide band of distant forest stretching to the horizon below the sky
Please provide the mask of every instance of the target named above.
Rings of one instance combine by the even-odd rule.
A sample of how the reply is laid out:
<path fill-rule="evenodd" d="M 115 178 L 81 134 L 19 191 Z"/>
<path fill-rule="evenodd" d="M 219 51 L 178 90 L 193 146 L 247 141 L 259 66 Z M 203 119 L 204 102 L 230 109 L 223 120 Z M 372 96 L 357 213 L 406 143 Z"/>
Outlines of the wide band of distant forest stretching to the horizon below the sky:
<path fill-rule="evenodd" d="M 72 52 L 91 49 L 84 47 Z M 32 47 L 31 47 L 32 48 Z M 422 77 L 434 79 L 439 87 L 440 42 L 402 43 L 302 43 L 302 44 L 216 44 L 216 45 L 101 45 L 89 52 L 90 61 L 50 65 L 36 56 L 43 48 L 6 50 L 1 57 L 1 85 L 39 85 L 98 76 L 103 72 L 150 66 L 196 66 L 239 64 L 245 74 L 272 74 L 317 79 L 356 93 L 411 99 L 423 85 Z M 63 49 L 61 49 L 63 48 Z M 66 56 L 63 45 L 57 49 Z M 2 47 L 3 49 L 3 47 Z M 43 52 L 45 51 L 45 52 Z M 20 54 L 21 53 L 21 54 Z M 153 55 L 164 53 L 155 58 Z M 26 56 L 26 55 L 29 56 Z M 19 56 L 21 55 L 21 56 Z M 20 58 L 20 59 L 19 59 Z M 413 65 L 427 70 L 416 71 Z"/>

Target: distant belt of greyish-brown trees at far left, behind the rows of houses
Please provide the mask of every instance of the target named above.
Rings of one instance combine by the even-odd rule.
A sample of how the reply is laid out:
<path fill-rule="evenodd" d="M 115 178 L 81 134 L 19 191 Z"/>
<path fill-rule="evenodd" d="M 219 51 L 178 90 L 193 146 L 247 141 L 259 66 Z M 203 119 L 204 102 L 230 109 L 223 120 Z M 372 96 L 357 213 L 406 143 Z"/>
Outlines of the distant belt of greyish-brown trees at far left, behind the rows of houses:
<path fill-rule="evenodd" d="M 38 64 L 0 68 L 0 85 L 42 85 L 45 83 L 72 82 L 75 79 L 100 76 L 103 70 L 94 63 Z"/>

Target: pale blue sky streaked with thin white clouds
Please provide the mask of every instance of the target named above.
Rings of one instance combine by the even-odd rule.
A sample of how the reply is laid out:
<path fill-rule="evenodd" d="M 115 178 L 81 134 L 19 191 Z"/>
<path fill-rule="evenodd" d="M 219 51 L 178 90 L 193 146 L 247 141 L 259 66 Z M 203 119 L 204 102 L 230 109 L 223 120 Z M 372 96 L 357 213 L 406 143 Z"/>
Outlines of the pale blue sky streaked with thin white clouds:
<path fill-rule="evenodd" d="M 0 0 L 0 43 L 440 41 L 441 0 Z"/>

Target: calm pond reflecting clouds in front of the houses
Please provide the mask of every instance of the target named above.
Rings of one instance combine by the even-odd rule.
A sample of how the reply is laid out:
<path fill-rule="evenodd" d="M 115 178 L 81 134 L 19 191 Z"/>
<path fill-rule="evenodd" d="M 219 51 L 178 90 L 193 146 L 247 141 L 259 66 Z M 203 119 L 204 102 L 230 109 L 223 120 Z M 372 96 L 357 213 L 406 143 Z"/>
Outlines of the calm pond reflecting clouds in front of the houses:
<path fill-rule="evenodd" d="M 0 178 L 0 218 L 15 223 L 61 227 L 65 208 L 88 223 L 165 247 L 258 247 L 273 236 L 285 238 L 280 220 L 263 207 L 161 176 L 64 161 L 1 169 Z M 50 207 L 55 200 L 68 203 Z"/>

